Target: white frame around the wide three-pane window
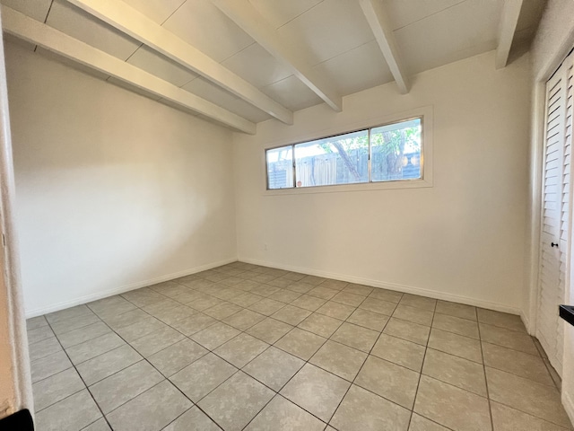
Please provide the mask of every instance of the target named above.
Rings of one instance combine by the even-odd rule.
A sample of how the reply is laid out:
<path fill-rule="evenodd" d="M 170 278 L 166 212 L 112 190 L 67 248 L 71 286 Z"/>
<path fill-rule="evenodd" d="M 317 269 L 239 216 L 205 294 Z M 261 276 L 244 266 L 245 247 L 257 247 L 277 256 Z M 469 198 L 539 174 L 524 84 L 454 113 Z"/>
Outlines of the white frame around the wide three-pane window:
<path fill-rule="evenodd" d="M 417 108 L 414 110 L 408 110 L 403 112 L 398 112 L 396 114 L 391 114 L 384 117 L 377 117 L 372 119 L 365 119 L 361 122 L 356 122 L 352 124 L 347 124 L 340 128 L 329 128 L 326 130 L 320 130 L 316 133 L 306 136 L 300 136 L 301 138 L 290 138 L 282 139 L 265 145 L 263 151 L 262 166 L 263 169 L 263 193 L 265 196 L 276 196 L 276 195 L 295 195 L 295 194 L 309 194 L 309 193 L 341 193 L 349 191 L 369 191 L 369 190 L 384 190 L 384 189 L 420 189 L 432 187 L 432 131 L 433 131 L 433 109 L 432 106 L 425 106 L 422 108 Z M 418 180 L 387 180 L 387 181 L 370 181 L 370 182 L 360 182 L 352 184 L 332 184 L 326 186 L 314 186 L 314 187 L 292 187 L 284 189 L 267 189 L 267 160 L 266 154 L 267 150 L 272 150 L 274 148 L 280 148 L 283 146 L 297 145 L 309 141 L 314 141 L 317 139 L 322 139 L 328 136 L 338 136 L 344 135 L 346 133 L 352 133 L 353 131 L 368 129 L 368 128 L 378 128 L 381 126 L 386 126 L 388 124 L 398 123 L 401 121 L 407 121 L 409 119 L 421 118 L 422 121 L 422 178 Z M 293 154 L 294 157 L 294 154 Z"/>

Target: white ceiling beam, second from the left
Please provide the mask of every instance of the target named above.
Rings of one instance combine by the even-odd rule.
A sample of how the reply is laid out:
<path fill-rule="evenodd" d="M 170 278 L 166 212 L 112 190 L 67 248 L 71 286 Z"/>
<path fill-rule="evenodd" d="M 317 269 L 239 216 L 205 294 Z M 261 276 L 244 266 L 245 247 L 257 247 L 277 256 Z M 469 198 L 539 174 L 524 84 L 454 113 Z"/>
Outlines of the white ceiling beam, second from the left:
<path fill-rule="evenodd" d="M 291 110 L 286 109 L 254 85 L 217 63 L 212 57 L 205 55 L 185 40 L 179 39 L 171 31 L 164 29 L 130 5 L 117 0 L 68 0 L 68 2 L 161 52 L 164 56 L 170 57 L 181 66 L 204 76 L 213 84 L 248 101 L 275 119 L 285 124 L 293 124 Z"/>

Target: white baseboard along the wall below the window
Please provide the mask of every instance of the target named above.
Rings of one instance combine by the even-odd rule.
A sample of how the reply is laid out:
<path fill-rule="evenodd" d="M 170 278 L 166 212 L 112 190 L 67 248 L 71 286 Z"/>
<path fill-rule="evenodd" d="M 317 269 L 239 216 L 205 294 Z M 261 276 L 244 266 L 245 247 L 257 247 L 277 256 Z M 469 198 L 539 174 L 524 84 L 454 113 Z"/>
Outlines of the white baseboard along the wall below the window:
<path fill-rule="evenodd" d="M 284 269 L 286 271 L 300 272 L 302 274 L 309 274 L 311 276 L 334 278 L 335 280 L 347 281 L 349 283 L 357 283 L 360 285 L 381 287 L 383 289 L 395 290 L 397 292 L 402 292 L 404 294 L 428 296 L 431 298 L 441 299 L 443 301 L 450 301 L 453 303 L 465 303 L 467 305 L 474 305 L 476 307 L 486 308 L 486 309 L 494 310 L 497 312 L 509 312 L 511 314 L 517 314 L 517 315 L 521 314 L 521 310 L 517 307 L 509 307 L 508 305 L 503 305 L 500 303 L 491 303 L 490 301 L 483 301 L 481 299 L 471 298 L 468 296 L 447 294 L 444 292 L 438 292 L 436 290 L 425 289 L 423 287 L 397 285 L 396 283 L 386 283 L 386 282 L 379 281 L 379 280 L 372 280 L 370 278 L 347 276 L 344 274 L 337 274 L 334 272 L 320 271 L 320 270 L 316 270 L 316 269 L 312 269 L 312 268 L 292 267 L 290 265 L 283 265 L 280 263 L 266 262 L 266 261 L 257 260 L 257 259 L 247 259 L 247 258 L 239 257 L 239 261 L 251 263 L 253 265 L 260 265 L 263 267 L 279 268 L 279 269 Z"/>

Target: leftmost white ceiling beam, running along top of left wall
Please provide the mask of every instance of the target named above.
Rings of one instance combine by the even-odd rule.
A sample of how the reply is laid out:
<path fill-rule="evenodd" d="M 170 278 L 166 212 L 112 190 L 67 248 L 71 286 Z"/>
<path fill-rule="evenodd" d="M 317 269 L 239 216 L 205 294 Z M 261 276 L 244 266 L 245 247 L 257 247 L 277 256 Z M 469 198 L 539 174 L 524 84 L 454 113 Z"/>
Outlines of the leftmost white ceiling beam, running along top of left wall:
<path fill-rule="evenodd" d="M 229 110 L 224 110 L 221 106 L 217 106 L 211 101 L 206 101 L 191 92 L 186 92 L 157 76 L 148 74 L 117 57 L 110 56 L 100 51 L 100 49 L 93 48 L 80 40 L 75 40 L 61 31 L 29 18 L 23 13 L 2 6 L 2 23 L 4 31 L 17 38 L 39 45 L 83 66 L 114 76 L 128 84 L 141 88 L 145 92 L 151 92 L 163 99 L 176 103 L 178 106 L 194 110 L 230 128 L 252 135 L 256 132 L 256 125 L 251 121 L 243 119 Z"/>

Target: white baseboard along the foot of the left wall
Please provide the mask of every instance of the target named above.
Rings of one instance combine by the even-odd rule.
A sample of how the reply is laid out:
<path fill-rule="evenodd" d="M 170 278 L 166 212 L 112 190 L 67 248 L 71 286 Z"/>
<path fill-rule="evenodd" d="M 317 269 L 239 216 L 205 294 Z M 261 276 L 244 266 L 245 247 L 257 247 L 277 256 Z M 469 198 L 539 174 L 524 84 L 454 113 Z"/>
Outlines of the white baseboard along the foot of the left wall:
<path fill-rule="evenodd" d="M 190 274 L 196 274 L 196 272 L 205 271 L 207 269 L 221 267 L 222 265 L 227 265 L 228 263 L 236 262 L 237 258 L 230 258 L 230 259 L 223 259 L 217 262 L 208 263 L 202 265 L 200 267 L 195 268 L 188 268 L 183 271 L 174 272 L 172 274 L 166 274 L 165 276 L 150 278 L 147 280 L 137 281 L 135 283 L 130 283 L 129 285 L 116 287 L 113 289 L 102 290 L 95 294 L 91 295 L 84 295 L 69 301 L 64 301 L 62 303 L 55 303 L 54 305 L 50 305 L 48 307 L 37 308 L 35 310 L 26 311 L 26 319 L 30 319 L 30 317 L 41 316 L 43 314 L 47 314 L 48 312 L 59 312 L 60 310 L 64 310 L 65 308 L 74 307 L 75 305 L 81 305 L 83 303 L 91 303 L 92 301 L 97 301 L 102 298 L 107 298 L 108 296 L 124 294 L 129 292 L 130 290 L 139 289 L 141 287 L 152 286 L 158 283 L 162 283 L 164 281 L 170 281 L 174 278 L 185 277 L 189 276 Z"/>

